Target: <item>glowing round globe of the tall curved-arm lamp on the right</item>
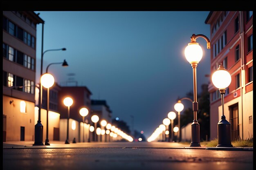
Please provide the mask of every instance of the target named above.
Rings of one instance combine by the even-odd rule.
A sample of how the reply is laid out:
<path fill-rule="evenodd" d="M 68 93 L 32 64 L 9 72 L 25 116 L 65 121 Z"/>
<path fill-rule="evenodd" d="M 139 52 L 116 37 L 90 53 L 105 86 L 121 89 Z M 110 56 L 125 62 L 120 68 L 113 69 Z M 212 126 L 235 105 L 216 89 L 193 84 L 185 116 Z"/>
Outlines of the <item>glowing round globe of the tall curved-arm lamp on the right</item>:
<path fill-rule="evenodd" d="M 203 56 L 202 47 L 197 42 L 191 42 L 186 46 L 185 57 L 190 64 L 199 63 Z"/>

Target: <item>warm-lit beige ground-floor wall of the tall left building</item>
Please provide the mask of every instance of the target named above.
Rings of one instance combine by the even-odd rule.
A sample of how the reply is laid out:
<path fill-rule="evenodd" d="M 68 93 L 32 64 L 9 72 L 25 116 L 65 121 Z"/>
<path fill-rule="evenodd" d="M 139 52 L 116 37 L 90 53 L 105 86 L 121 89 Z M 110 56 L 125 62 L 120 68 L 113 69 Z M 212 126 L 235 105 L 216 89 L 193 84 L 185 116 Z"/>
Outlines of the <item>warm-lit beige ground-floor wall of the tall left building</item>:
<path fill-rule="evenodd" d="M 10 101 L 13 102 L 10 104 Z M 33 102 L 26 102 L 26 113 L 20 112 L 20 101 L 3 95 L 3 114 L 6 119 L 6 141 L 20 141 L 20 126 L 25 127 L 25 141 L 34 140 L 34 107 Z"/>

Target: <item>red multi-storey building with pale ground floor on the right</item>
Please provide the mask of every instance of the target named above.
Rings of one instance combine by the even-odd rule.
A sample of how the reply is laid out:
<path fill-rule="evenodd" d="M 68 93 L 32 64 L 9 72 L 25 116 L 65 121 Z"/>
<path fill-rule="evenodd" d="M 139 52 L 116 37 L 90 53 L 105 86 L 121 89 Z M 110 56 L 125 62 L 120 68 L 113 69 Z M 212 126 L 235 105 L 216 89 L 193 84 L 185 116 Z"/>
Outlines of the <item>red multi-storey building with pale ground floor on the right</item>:
<path fill-rule="evenodd" d="M 222 65 L 231 74 L 224 98 L 224 114 L 231 124 L 231 139 L 253 137 L 253 12 L 211 11 L 211 74 Z M 210 135 L 217 138 L 222 115 L 218 89 L 209 84 Z"/>

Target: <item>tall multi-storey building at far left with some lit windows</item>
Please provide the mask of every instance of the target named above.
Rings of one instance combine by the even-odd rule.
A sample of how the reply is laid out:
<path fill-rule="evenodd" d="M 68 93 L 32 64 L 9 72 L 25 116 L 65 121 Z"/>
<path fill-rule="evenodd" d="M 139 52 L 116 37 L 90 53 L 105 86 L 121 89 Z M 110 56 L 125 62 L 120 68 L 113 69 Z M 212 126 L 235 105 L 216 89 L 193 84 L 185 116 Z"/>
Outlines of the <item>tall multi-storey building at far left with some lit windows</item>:
<path fill-rule="evenodd" d="M 33 11 L 3 11 L 3 141 L 34 140 L 36 24 Z"/>

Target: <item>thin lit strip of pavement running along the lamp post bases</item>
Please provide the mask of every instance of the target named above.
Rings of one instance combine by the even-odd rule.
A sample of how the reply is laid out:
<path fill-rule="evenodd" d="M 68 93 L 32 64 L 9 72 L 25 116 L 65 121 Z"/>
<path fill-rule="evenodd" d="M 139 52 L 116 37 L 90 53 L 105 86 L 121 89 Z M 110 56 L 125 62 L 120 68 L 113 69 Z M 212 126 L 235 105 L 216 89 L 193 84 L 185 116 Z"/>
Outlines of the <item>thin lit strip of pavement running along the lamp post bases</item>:
<path fill-rule="evenodd" d="M 77 142 L 65 144 L 65 141 L 50 141 L 50 146 L 33 146 L 34 141 L 3 142 L 3 149 L 31 149 L 31 148 L 163 148 L 163 149 L 203 149 L 203 150 L 236 150 L 253 151 L 253 147 L 190 147 L 189 144 L 176 142 Z"/>

